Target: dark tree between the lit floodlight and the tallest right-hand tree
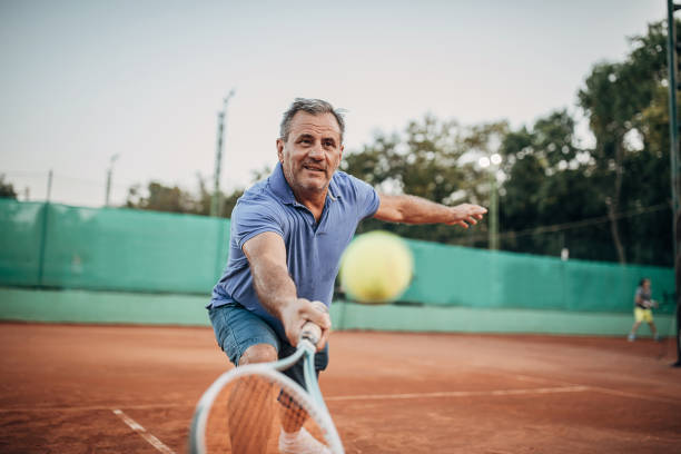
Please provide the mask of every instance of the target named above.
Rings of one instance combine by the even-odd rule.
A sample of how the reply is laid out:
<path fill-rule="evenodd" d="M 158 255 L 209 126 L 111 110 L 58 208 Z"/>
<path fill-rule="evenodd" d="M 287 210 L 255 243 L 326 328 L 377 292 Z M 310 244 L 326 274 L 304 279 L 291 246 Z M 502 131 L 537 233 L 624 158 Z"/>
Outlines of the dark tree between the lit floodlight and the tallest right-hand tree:
<path fill-rule="evenodd" d="M 575 144 L 575 121 L 564 109 L 504 137 L 500 147 L 506 175 L 500 204 L 503 249 L 555 256 L 568 247 L 573 256 L 598 258 L 591 254 L 601 240 L 598 231 L 532 234 L 600 214 L 589 178 L 590 154 Z"/>

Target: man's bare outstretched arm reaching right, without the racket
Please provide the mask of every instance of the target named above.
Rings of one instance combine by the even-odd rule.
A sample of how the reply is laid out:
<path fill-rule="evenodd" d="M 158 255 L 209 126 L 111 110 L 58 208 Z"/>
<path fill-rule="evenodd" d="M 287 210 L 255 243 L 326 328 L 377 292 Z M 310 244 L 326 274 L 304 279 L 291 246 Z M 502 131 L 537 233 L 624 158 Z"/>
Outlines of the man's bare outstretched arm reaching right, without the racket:
<path fill-rule="evenodd" d="M 461 204 L 455 207 L 436 204 L 416 196 L 378 194 L 381 205 L 376 219 L 404 224 L 456 224 L 464 228 L 475 225 L 487 213 L 480 205 Z"/>

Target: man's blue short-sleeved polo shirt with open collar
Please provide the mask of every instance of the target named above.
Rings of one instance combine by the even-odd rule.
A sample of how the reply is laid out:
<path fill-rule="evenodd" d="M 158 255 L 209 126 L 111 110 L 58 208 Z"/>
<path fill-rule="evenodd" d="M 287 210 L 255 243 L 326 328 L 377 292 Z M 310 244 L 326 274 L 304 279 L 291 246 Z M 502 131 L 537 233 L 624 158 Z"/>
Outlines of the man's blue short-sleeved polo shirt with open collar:
<path fill-rule="evenodd" d="M 298 297 L 330 305 L 340 255 L 355 235 L 359 221 L 378 209 L 378 195 L 366 182 L 336 171 L 329 182 L 319 223 L 298 204 L 282 165 L 250 187 L 231 213 L 229 258 L 220 280 L 213 288 L 209 305 L 239 303 L 266 319 L 279 335 L 282 323 L 261 306 L 253 286 L 244 243 L 265 231 L 284 238 L 286 261 Z"/>

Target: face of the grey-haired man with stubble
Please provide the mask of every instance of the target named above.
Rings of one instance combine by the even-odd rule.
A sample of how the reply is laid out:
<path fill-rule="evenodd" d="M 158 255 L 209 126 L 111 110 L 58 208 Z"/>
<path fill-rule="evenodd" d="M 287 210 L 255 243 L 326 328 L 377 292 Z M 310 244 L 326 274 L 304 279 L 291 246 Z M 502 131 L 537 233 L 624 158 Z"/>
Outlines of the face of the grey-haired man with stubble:
<path fill-rule="evenodd" d="M 343 156 L 336 117 L 297 112 L 290 124 L 288 140 L 277 139 L 277 154 L 294 194 L 326 194 Z"/>

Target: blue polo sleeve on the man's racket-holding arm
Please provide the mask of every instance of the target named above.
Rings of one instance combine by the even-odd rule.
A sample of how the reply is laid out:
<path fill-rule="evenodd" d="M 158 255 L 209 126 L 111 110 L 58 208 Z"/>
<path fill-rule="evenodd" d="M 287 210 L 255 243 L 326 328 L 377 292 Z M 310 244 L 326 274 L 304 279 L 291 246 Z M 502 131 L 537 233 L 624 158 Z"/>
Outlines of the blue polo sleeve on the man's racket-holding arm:
<path fill-rule="evenodd" d="M 280 216 L 272 203 L 259 199 L 241 199 L 231 211 L 231 238 L 243 248 L 244 243 L 265 231 L 284 237 Z"/>

